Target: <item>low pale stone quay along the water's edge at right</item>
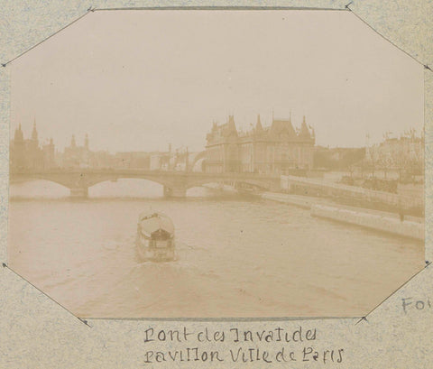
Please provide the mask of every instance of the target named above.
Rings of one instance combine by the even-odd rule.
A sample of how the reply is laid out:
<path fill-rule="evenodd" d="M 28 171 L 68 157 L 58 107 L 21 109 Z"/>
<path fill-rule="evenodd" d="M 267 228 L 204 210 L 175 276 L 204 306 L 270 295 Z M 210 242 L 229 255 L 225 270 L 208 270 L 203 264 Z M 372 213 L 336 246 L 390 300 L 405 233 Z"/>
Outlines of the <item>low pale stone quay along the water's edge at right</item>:
<path fill-rule="evenodd" d="M 310 210 L 312 217 L 323 217 L 356 226 L 402 235 L 424 241 L 424 220 L 366 208 L 339 205 L 325 198 L 264 192 L 262 198 Z"/>

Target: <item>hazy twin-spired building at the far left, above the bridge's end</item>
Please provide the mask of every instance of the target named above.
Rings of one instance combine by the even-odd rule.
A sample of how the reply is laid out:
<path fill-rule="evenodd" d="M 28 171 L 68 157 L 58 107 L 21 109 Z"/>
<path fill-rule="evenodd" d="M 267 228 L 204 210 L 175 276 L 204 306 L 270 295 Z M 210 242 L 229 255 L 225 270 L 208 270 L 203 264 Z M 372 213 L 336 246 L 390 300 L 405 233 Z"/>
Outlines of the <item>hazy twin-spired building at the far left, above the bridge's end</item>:
<path fill-rule="evenodd" d="M 10 143 L 9 164 L 11 171 L 47 169 L 56 166 L 54 143 L 40 146 L 36 123 L 33 124 L 32 136 L 24 139 L 21 124 L 15 129 L 14 139 Z"/>

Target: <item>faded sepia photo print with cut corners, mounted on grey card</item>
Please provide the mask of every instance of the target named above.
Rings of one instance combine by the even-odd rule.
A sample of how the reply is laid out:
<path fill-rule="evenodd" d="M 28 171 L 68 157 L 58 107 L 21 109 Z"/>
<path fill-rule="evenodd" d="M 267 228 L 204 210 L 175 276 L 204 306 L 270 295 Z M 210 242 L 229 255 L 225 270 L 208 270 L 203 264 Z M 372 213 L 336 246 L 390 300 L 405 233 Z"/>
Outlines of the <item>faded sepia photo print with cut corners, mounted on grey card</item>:
<path fill-rule="evenodd" d="M 424 266 L 423 69 L 350 12 L 101 10 L 7 68 L 7 262 L 80 318 L 363 317 Z"/>

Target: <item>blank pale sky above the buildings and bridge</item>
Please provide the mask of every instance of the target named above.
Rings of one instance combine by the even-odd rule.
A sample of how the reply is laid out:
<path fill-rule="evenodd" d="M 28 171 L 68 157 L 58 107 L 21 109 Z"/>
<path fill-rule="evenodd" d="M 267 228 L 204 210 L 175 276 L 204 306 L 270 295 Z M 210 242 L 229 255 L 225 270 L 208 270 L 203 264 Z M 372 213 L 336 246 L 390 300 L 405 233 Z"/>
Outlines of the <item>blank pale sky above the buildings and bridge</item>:
<path fill-rule="evenodd" d="M 212 121 L 302 115 L 317 143 L 423 126 L 423 69 L 341 11 L 100 11 L 12 68 L 11 129 L 63 150 L 203 150 Z"/>

